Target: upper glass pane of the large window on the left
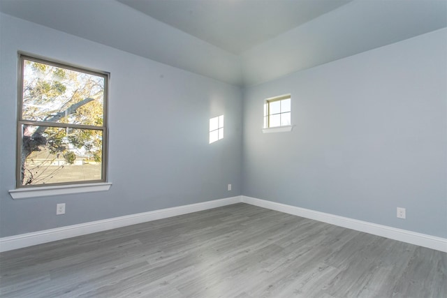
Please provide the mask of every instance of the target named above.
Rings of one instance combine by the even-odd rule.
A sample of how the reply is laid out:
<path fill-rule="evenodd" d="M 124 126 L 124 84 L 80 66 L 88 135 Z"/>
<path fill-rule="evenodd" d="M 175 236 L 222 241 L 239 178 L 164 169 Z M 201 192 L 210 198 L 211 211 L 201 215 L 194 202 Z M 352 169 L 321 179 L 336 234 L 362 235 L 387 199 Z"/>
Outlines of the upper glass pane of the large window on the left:
<path fill-rule="evenodd" d="M 22 118 L 103 126 L 105 78 L 24 60 Z"/>

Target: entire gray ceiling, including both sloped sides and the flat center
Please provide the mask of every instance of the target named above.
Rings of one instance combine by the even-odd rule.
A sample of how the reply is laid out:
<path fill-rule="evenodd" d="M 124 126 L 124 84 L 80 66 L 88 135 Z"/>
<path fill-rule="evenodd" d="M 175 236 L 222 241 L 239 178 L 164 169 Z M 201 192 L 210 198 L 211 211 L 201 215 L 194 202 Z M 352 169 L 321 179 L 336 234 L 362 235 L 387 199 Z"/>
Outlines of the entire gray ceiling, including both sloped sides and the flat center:
<path fill-rule="evenodd" d="M 240 86 L 447 27 L 446 0 L 0 0 L 0 11 Z"/>

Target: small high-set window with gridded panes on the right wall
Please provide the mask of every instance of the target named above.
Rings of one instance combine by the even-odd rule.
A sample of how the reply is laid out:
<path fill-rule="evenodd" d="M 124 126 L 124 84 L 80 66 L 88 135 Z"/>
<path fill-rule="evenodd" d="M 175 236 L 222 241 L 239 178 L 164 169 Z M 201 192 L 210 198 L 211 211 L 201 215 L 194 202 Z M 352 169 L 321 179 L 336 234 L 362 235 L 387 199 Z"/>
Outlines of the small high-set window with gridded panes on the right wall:
<path fill-rule="evenodd" d="M 291 95 L 268 98 L 264 104 L 264 128 L 291 125 Z"/>

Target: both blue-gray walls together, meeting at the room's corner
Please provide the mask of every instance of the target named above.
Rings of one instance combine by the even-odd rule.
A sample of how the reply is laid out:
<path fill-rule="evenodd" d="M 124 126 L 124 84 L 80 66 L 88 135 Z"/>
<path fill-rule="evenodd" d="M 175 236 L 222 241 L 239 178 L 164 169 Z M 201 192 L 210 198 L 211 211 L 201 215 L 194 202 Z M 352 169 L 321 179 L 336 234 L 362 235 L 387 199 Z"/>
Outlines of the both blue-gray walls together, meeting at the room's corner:
<path fill-rule="evenodd" d="M 241 194 L 447 237 L 446 37 L 248 87 L 242 114 L 238 87 L 0 14 L 0 237 Z M 10 198 L 17 50 L 111 73 L 110 191 Z M 295 128 L 263 134 L 264 98 L 287 93 Z"/>

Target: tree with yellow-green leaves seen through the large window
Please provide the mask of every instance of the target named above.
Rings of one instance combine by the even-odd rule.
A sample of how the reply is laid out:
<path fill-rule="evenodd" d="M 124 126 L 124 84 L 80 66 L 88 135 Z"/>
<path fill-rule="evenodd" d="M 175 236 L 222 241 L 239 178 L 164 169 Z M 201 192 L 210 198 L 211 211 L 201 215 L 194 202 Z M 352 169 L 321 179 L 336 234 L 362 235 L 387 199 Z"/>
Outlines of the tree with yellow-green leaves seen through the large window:
<path fill-rule="evenodd" d="M 101 161 L 105 77 L 27 59 L 22 74 L 20 184 L 36 184 L 56 158 L 73 164 L 74 151 Z M 44 161 L 36 165 L 36 156 Z M 49 172 L 41 183 L 51 183 L 54 169 Z"/>

